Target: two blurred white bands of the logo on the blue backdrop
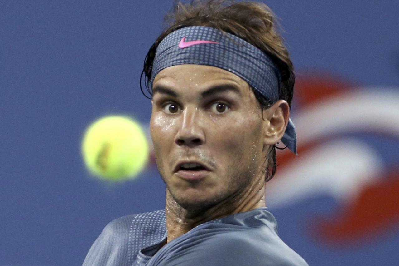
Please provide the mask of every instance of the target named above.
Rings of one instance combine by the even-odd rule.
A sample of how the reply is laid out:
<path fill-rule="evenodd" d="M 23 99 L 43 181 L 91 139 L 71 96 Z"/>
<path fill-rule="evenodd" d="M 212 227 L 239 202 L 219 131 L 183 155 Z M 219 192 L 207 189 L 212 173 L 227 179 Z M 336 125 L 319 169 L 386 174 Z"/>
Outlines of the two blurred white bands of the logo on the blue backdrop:
<path fill-rule="evenodd" d="M 292 119 L 298 146 L 351 131 L 370 130 L 399 139 L 398 91 L 362 88 L 302 109 Z M 383 167 L 367 143 L 355 138 L 330 141 L 278 169 L 267 184 L 267 203 L 274 208 L 321 193 L 351 200 L 383 173 Z"/>

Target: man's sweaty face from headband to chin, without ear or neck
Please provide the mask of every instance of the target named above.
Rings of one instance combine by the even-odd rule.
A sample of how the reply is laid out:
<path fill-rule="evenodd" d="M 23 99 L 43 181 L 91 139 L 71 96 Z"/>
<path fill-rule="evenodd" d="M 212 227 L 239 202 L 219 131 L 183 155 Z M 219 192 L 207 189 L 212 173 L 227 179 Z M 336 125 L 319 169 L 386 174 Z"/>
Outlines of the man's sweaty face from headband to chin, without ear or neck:
<path fill-rule="evenodd" d="M 153 82 L 151 138 L 157 166 L 184 208 L 239 201 L 265 167 L 262 111 L 249 85 L 223 69 L 167 67 Z M 204 168 L 179 163 L 196 162 Z"/>

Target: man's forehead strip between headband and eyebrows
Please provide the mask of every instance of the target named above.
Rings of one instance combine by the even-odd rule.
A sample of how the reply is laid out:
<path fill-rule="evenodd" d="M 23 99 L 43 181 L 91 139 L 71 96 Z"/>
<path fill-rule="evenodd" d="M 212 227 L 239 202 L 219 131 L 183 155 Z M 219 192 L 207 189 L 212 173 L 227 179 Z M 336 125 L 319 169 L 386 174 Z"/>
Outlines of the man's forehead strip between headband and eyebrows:
<path fill-rule="evenodd" d="M 198 86 L 206 83 L 236 83 L 242 89 L 249 88 L 241 77 L 227 70 L 213 66 L 185 64 L 162 69 L 154 78 L 153 86 L 158 83 L 171 83 L 179 87 Z"/>

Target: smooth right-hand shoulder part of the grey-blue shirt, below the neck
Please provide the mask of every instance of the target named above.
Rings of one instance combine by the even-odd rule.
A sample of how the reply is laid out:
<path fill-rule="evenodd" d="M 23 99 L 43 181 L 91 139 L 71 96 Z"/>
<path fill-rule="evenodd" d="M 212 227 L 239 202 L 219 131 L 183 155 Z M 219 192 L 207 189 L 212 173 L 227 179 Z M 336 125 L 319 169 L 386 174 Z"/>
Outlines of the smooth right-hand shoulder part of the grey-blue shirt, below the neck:
<path fill-rule="evenodd" d="M 158 263 L 154 265 L 307 266 L 278 236 L 273 215 L 265 210 L 258 212 L 194 228 L 164 246 L 163 252 L 156 254 L 154 262 Z"/>

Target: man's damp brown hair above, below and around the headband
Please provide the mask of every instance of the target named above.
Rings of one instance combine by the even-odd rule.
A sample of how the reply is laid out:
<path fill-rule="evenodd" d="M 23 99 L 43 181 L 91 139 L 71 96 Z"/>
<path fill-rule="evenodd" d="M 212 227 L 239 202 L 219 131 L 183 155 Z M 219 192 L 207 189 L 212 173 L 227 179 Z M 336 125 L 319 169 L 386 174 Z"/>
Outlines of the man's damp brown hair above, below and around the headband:
<path fill-rule="evenodd" d="M 291 106 L 295 81 L 293 65 L 283 40 L 277 31 L 279 25 L 276 21 L 276 16 L 267 5 L 259 2 L 235 2 L 234 0 L 207 0 L 205 2 L 192 0 L 190 4 L 176 2 L 165 16 L 165 22 L 169 28 L 164 30 L 156 39 L 144 60 L 142 75 L 145 74 L 145 85 L 150 95 L 152 95 L 149 89 L 152 63 L 156 48 L 160 42 L 168 34 L 180 28 L 208 26 L 233 34 L 253 44 L 271 57 L 279 67 L 282 77 L 279 87 L 279 99 L 286 100 L 288 105 Z M 142 89 L 141 82 L 140 88 Z M 273 102 L 254 89 L 253 93 L 262 109 L 269 108 L 273 104 Z M 276 145 L 271 146 L 266 157 L 266 181 L 269 181 L 276 172 L 276 148 L 280 149 Z"/>

